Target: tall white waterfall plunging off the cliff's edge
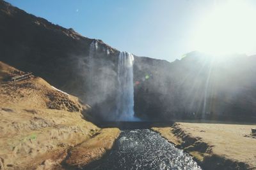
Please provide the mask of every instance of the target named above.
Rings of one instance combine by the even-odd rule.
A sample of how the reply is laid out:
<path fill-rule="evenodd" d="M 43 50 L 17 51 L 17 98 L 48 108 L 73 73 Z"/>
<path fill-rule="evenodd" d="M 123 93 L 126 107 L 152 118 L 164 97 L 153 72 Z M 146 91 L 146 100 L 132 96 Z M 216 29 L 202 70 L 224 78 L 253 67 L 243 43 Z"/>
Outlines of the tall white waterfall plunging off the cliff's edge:
<path fill-rule="evenodd" d="M 131 53 L 120 52 L 118 56 L 118 92 L 116 100 L 116 118 L 134 120 L 133 61 Z"/>

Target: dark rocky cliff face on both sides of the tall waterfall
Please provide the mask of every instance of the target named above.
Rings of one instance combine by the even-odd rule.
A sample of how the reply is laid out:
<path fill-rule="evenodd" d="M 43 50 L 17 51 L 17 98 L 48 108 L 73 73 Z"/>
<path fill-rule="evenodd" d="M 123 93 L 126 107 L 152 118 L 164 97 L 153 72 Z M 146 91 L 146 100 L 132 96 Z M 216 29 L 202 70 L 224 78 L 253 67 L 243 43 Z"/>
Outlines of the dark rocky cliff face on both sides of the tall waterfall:
<path fill-rule="evenodd" d="M 80 97 L 97 120 L 115 110 L 118 50 L 4 1 L 0 37 L 0 60 Z M 255 58 L 215 60 L 193 52 L 170 63 L 134 56 L 135 114 L 163 120 L 255 117 Z"/>

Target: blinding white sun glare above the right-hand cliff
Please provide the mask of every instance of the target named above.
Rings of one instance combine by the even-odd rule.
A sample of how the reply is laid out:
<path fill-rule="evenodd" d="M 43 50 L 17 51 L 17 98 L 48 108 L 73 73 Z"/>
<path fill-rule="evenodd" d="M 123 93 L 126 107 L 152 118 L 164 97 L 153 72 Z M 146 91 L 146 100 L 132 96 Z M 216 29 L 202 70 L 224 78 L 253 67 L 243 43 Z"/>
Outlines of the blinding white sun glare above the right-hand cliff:
<path fill-rule="evenodd" d="M 193 48 L 211 55 L 253 53 L 256 50 L 256 10 L 248 1 L 216 3 L 199 21 L 194 36 Z"/>

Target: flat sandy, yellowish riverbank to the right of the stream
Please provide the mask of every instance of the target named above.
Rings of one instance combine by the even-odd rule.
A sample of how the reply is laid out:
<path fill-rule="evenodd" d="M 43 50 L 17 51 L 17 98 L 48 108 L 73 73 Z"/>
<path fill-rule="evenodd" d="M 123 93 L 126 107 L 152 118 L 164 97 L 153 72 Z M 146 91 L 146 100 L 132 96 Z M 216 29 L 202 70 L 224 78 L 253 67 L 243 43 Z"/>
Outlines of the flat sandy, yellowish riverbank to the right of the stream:
<path fill-rule="evenodd" d="M 214 169 L 214 164 L 231 169 L 256 169 L 253 127 L 256 125 L 179 122 L 172 127 L 152 129 L 191 153 L 203 167 L 207 167 L 205 169 Z"/>

